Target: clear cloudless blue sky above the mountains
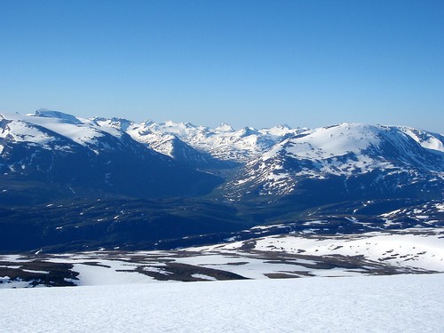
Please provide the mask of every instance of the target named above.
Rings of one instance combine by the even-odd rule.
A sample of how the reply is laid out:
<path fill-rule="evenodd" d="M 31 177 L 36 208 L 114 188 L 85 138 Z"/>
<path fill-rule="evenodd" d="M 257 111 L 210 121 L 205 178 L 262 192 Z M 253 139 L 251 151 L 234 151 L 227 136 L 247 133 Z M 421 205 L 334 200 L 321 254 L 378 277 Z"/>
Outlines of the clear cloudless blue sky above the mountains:
<path fill-rule="evenodd" d="M 0 110 L 444 133 L 441 0 L 0 0 Z"/>

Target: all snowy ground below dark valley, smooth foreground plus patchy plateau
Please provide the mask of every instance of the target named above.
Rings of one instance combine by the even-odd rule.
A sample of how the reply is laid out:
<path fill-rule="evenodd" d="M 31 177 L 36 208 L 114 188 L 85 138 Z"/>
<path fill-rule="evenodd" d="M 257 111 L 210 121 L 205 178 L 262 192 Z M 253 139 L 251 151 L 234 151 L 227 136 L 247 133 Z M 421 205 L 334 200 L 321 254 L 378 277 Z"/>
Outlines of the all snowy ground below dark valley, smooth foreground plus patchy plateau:
<path fill-rule="evenodd" d="M 0 277 L 7 288 L 0 289 L 0 331 L 444 329 L 440 228 L 233 241 L 170 251 L 2 255 L 0 270 L 23 279 Z M 21 288 L 44 287 L 46 277 L 77 287 Z"/>

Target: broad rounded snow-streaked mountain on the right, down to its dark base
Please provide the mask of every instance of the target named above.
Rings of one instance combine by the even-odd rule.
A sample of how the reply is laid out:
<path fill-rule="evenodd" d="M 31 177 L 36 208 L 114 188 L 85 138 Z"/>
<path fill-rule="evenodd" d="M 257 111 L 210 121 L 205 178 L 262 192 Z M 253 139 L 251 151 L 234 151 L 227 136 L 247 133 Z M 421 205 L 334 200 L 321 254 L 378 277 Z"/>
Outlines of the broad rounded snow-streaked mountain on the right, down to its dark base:
<path fill-rule="evenodd" d="M 234 199 L 305 192 L 313 183 L 344 197 L 440 195 L 443 142 L 439 134 L 406 127 L 342 123 L 283 139 L 225 187 Z"/>

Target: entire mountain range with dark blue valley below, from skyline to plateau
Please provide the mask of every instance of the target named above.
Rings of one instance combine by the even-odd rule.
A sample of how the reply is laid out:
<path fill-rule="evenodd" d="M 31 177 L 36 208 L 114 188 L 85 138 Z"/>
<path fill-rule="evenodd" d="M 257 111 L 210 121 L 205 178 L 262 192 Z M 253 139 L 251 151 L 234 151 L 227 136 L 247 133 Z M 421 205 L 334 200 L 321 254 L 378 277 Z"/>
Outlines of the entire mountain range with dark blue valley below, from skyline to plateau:
<path fill-rule="evenodd" d="M 11 250 L 172 247 L 258 224 L 301 230 L 316 218 L 350 232 L 367 228 L 364 220 L 378 230 L 431 227 L 443 200 L 444 137 L 429 131 L 360 123 L 234 130 L 43 109 L 0 115 L 0 228 L 33 240 L 5 236 Z M 427 218 L 382 215 L 421 207 Z"/>

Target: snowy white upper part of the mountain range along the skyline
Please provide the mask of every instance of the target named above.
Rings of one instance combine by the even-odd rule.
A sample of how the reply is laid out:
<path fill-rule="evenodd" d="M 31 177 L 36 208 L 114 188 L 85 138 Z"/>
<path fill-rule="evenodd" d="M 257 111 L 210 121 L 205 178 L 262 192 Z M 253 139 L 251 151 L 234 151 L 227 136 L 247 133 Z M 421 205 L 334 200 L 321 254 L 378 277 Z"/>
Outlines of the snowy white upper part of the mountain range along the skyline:
<path fill-rule="evenodd" d="M 252 127 L 234 130 L 225 123 L 217 128 L 170 121 L 134 123 L 123 118 L 87 119 L 44 109 L 37 110 L 35 115 L 4 114 L 0 119 L 4 123 L 10 123 L 7 129 L 3 126 L 0 138 L 41 144 L 44 147 L 48 147 L 47 144 L 55 139 L 52 137 L 54 134 L 59 134 L 75 143 L 90 147 L 91 150 L 94 150 L 94 147 L 100 149 L 100 138 L 111 135 L 122 139 L 123 133 L 127 133 L 135 141 L 145 143 L 153 150 L 172 158 L 180 158 L 178 155 L 188 149 L 195 155 L 210 155 L 218 160 L 235 163 L 249 163 L 257 158 L 268 160 L 280 152 L 294 158 L 316 161 L 325 161 L 350 153 L 356 155 L 361 151 L 369 152 L 371 148 L 375 153 L 380 153 L 378 149 L 387 144 L 385 141 L 389 141 L 395 150 L 407 148 L 409 151 L 412 147 L 411 143 L 406 143 L 407 138 L 413 139 L 420 147 L 430 152 L 444 153 L 444 137 L 440 134 L 396 126 L 343 123 L 309 130 L 292 129 L 283 124 L 260 130 Z M 178 145 L 187 148 L 178 149 Z M 62 149 L 57 146 L 52 148 Z M 285 152 L 282 152 L 282 149 Z M 412 154 L 417 153 L 417 148 L 413 147 L 413 150 Z M 408 157 L 408 151 L 404 152 L 402 157 Z M 358 164 L 362 163 L 366 164 L 366 161 Z M 337 169 L 336 165 L 324 167 L 323 171 L 337 173 L 335 167 Z M 354 168 L 352 165 L 352 169 L 356 167 L 361 168 L 362 165 L 354 165 Z M 377 167 L 383 168 L 385 165 L 380 163 Z"/>

